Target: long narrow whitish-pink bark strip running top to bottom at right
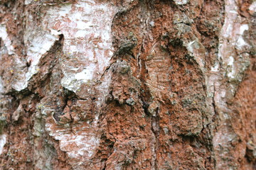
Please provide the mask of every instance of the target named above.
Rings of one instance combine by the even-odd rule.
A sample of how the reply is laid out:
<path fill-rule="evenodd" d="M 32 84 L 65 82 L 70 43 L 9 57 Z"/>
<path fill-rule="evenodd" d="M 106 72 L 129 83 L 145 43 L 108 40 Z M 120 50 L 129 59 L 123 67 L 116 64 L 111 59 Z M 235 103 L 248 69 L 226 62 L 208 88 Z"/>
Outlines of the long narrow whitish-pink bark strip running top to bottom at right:
<path fill-rule="evenodd" d="M 222 70 L 225 70 L 225 74 L 220 72 L 218 77 L 213 74 L 209 80 L 214 84 L 214 89 L 212 88 L 213 97 L 220 116 L 220 127 L 213 137 L 213 146 L 217 158 L 216 169 L 223 169 L 230 164 L 230 162 L 223 161 L 223 158 L 229 154 L 229 152 L 223 152 L 223 150 L 230 148 L 230 142 L 235 139 L 236 134 L 228 128 L 229 124 L 226 120 L 230 120 L 232 111 L 229 110 L 226 100 L 227 95 L 235 94 L 235 88 L 237 88 L 235 83 L 241 81 L 242 72 L 245 71 L 248 65 L 246 55 L 242 55 L 247 52 L 247 47 L 250 47 L 243 38 L 245 30 L 248 29 L 248 25 L 244 24 L 243 18 L 238 13 L 235 0 L 225 0 L 225 23 L 220 32 L 218 60 L 212 67 L 212 70 L 217 70 L 215 67 L 220 65 L 219 61 L 223 61 Z M 220 84 L 220 79 L 225 79 L 225 76 L 230 80 L 226 88 Z M 237 165 L 233 164 L 233 166 Z"/>

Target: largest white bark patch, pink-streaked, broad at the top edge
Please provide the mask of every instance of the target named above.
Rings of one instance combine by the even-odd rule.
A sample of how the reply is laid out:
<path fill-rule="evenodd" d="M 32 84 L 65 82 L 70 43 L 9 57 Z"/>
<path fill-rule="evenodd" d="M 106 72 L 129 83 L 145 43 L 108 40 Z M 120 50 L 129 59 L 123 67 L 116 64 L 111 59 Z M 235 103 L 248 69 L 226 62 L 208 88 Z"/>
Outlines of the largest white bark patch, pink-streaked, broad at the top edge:
<path fill-rule="evenodd" d="M 43 23 L 64 35 L 61 84 L 66 89 L 80 91 L 82 84 L 99 79 L 110 64 L 111 25 L 116 12 L 115 6 L 92 0 L 48 10 Z M 48 18 L 51 18 L 50 23 Z"/>

